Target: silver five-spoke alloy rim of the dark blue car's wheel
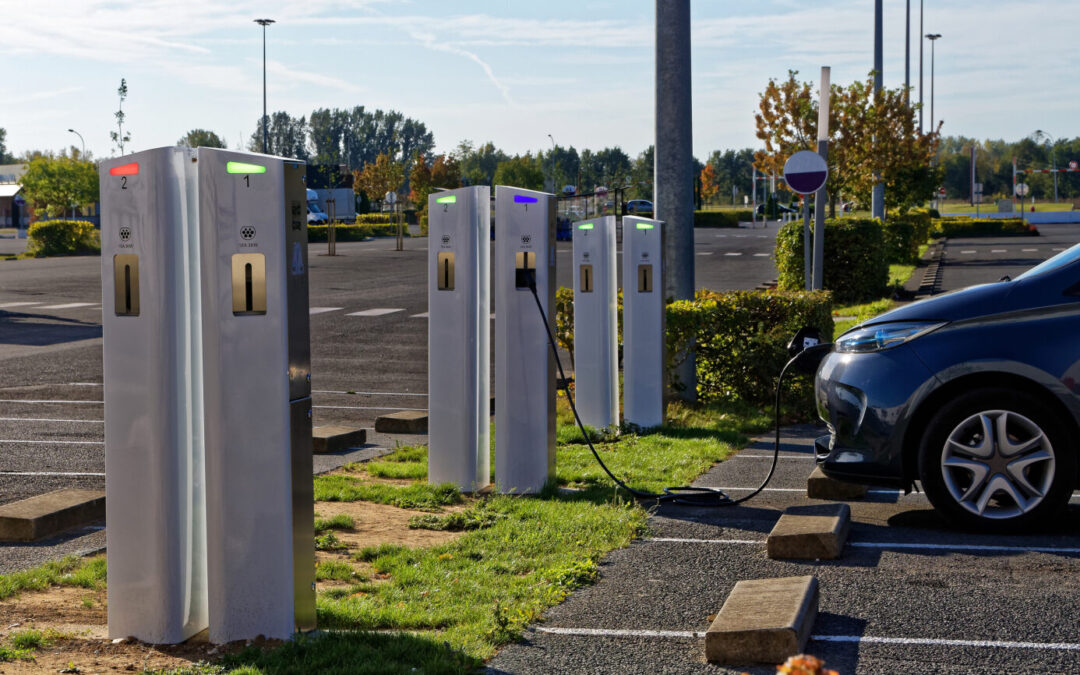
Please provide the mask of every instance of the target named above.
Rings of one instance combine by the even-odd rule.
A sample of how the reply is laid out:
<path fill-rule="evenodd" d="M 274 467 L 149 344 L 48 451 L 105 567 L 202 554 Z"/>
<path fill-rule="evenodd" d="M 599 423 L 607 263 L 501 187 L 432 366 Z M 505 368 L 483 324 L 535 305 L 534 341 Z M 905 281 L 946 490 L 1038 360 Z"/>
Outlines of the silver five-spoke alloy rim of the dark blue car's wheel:
<path fill-rule="evenodd" d="M 949 433 L 941 470 L 949 495 L 969 513 L 1014 518 L 1045 499 L 1054 481 L 1054 448 L 1027 417 L 984 410 Z"/>

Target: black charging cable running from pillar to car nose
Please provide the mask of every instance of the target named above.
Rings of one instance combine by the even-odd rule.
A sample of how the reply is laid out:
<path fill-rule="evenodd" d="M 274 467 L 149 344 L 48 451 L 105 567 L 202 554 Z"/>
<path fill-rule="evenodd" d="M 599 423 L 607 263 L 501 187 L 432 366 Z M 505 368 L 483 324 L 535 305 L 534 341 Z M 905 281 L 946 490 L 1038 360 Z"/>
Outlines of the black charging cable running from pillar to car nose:
<path fill-rule="evenodd" d="M 812 360 L 816 359 L 816 362 L 820 363 L 821 360 L 825 357 L 825 354 L 832 350 L 832 345 L 808 345 L 810 340 L 806 340 L 804 342 L 806 348 L 795 354 L 780 370 L 780 377 L 777 379 L 777 390 L 774 394 L 777 442 L 772 451 L 772 463 L 769 465 L 769 473 L 766 474 L 765 481 L 762 481 L 761 485 L 754 489 L 753 492 L 744 495 L 738 499 L 733 499 L 719 488 L 699 487 L 694 485 L 665 487 L 663 492 L 646 492 L 644 490 L 634 489 L 620 480 L 619 476 L 611 473 L 611 470 L 604 463 L 604 460 L 600 459 L 599 453 L 597 453 L 596 448 L 593 446 L 593 442 L 589 437 L 589 432 L 585 431 L 585 424 L 581 421 L 581 416 L 578 414 L 578 406 L 573 404 L 573 396 L 570 395 L 570 387 L 568 380 L 566 379 L 566 373 L 563 370 L 563 361 L 558 357 L 558 349 L 555 347 L 555 336 L 552 334 L 551 326 L 548 325 L 548 314 L 543 311 L 543 303 L 540 302 L 540 296 L 537 294 L 536 276 L 532 270 L 527 271 L 527 278 L 529 291 L 532 293 L 532 299 L 537 302 L 537 309 L 540 311 L 540 318 L 543 320 L 544 330 L 548 333 L 548 345 L 551 347 L 551 352 L 555 356 L 555 365 L 558 367 L 558 376 L 563 382 L 563 391 L 566 392 L 566 400 L 569 401 L 570 410 L 573 411 L 573 419 L 577 420 L 578 428 L 581 430 L 581 436 L 585 440 L 585 443 L 589 444 L 589 449 L 592 450 L 593 457 L 596 458 L 596 462 L 616 485 L 623 488 L 637 499 L 650 499 L 658 502 L 686 504 L 691 507 L 734 507 L 735 504 L 741 504 L 744 501 L 753 499 L 765 489 L 765 487 L 769 484 L 769 481 L 772 480 L 772 474 L 777 471 L 777 461 L 780 459 L 780 387 L 784 381 L 784 376 L 787 374 L 788 369 L 793 367 L 804 372 L 815 370 L 816 363 L 812 363 Z M 800 332 L 800 335 L 801 333 L 802 332 Z M 791 349 L 791 347 L 788 347 L 788 349 Z"/>

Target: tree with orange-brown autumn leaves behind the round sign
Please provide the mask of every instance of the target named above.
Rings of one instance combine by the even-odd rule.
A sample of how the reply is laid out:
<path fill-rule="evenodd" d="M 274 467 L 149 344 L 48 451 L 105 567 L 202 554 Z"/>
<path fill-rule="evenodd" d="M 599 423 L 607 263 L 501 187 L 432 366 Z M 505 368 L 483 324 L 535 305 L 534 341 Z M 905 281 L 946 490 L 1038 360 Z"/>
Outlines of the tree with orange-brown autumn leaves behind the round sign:
<path fill-rule="evenodd" d="M 754 116 L 757 137 L 765 150 L 754 154 L 754 165 L 765 174 L 783 174 L 784 162 L 799 150 L 818 149 L 818 100 L 810 82 L 799 82 L 795 70 L 787 79 L 769 84 L 759 95 Z M 937 151 L 937 130 L 919 133 L 917 107 L 908 107 L 903 89 L 874 91 L 870 73 L 865 82 L 832 86 L 828 114 L 829 215 L 842 198 L 869 204 L 874 174 L 885 181 L 889 208 L 924 202 L 941 180 L 932 166 Z"/>

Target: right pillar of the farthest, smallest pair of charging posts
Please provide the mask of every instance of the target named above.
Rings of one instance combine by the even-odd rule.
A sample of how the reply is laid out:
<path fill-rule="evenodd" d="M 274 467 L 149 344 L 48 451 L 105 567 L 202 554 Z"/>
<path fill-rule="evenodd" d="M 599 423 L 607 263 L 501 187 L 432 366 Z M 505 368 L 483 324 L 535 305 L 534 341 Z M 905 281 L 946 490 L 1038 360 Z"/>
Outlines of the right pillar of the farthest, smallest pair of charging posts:
<path fill-rule="evenodd" d="M 664 422 L 663 240 L 660 220 L 623 216 L 623 416 L 643 429 Z"/>

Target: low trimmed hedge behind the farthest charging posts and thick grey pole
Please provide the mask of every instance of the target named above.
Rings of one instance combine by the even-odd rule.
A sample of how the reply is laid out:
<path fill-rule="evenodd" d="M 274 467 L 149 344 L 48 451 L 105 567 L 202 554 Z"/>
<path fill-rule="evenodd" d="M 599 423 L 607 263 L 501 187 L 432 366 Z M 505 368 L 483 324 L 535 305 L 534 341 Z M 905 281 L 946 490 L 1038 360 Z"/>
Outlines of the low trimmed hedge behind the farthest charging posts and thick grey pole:
<path fill-rule="evenodd" d="M 619 295 L 622 313 L 622 295 Z M 787 361 L 787 342 L 802 326 L 833 335 L 833 300 L 828 293 L 780 291 L 699 291 L 693 300 L 667 306 L 665 349 L 674 369 L 692 340 L 697 354 L 698 399 L 771 405 L 773 382 Z M 555 293 L 555 339 L 573 353 L 573 291 Z M 622 322 L 619 346 L 622 348 Z M 806 402 L 810 387 L 800 382 L 785 397 Z M 678 383 L 673 383 L 678 387 Z M 800 399 L 796 399 L 799 396 Z"/>

